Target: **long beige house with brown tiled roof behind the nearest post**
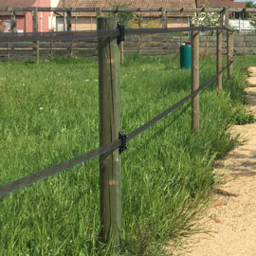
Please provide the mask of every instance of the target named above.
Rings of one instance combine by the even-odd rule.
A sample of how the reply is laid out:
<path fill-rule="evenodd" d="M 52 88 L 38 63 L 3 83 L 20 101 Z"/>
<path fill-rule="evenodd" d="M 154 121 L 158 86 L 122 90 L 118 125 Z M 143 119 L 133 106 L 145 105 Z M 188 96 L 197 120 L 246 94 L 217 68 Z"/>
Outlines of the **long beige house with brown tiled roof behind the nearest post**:
<path fill-rule="evenodd" d="M 194 0 L 60 0 L 58 8 L 195 8 Z M 141 13 L 135 13 L 139 16 Z M 161 19 L 161 13 L 146 12 L 142 13 L 143 19 L 153 19 L 158 17 Z M 188 27 L 190 26 L 190 18 L 193 13 L 167 13 L 168 27 Z M 96 29 L 97 27 L 96 13 L 74 13 L 72 12 L 71 29 L 72 30 L 87 30 Z M 63 30 L 64 18 L 62 15 L 56 17 L 56 29 Z"/>

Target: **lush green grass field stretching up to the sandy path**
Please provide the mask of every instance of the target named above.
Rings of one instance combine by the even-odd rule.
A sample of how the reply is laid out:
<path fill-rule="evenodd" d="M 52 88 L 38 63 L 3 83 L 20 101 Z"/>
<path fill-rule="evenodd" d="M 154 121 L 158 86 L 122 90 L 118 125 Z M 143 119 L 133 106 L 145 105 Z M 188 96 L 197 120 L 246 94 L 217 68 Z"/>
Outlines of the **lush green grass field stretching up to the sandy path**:
<path fill-rule="evenodd" d="M 227 129 L 253 121 L 245 113 L 247 65 L 200 95 L 200 134 L 191 104 L 129 142 L 122 154 L 122 251 L 162 255 L 168 241 L 192 232 L 208 202 L 214 160 L 236 143 Z M 200 80 L 215 60 L 200 61 Z M 121 67 L 121 126 L 130 133 L 191 92 L 190 70 L 174 56 L 130 56 Z M 0 64 L 0 186 L 99 146 L 98 63 L 56 59 Z M 0 255 L 115 255 L 99 242 L 99 158 L 0 198 Z"/>

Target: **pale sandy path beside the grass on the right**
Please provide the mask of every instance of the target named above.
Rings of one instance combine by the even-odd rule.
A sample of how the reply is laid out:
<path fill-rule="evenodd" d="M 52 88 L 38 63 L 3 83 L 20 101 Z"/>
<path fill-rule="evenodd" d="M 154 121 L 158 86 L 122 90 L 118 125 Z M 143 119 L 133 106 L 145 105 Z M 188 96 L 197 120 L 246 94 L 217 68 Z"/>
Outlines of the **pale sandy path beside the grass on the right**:
<path fill-rule="evenodd" d="M 256 86 L 256 67 L 248 82 Z M 247 88 L 248 111 L 256 117 L 256 87 Z M 234 126 L 247 141 L 216 166 L 224 178 L 215 190 L 204 227 L 210 234 L 195 234 L 182 256 L 256 256 L 256 123 Z"/>

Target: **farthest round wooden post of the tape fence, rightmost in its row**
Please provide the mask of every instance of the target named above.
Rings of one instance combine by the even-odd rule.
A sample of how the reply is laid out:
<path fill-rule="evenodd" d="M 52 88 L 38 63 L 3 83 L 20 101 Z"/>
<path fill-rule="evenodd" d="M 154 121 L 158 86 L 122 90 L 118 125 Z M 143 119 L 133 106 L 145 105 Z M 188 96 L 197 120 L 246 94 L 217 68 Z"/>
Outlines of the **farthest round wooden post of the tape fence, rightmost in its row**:
<path fill-rule="evenodd" d="M 229 8 L 226 8 L 225 10 L 225 27 L 229 28 Z M 229 64 L 229 62 L 233 60 L 232 40 L 233 40 L 233 33 L 227 30 L 227 64 Z M 232 74 L 232 65 L 229 65 L 229 68 L 228 68 L 229 79 L 231 78 L 231 74 Z"/>

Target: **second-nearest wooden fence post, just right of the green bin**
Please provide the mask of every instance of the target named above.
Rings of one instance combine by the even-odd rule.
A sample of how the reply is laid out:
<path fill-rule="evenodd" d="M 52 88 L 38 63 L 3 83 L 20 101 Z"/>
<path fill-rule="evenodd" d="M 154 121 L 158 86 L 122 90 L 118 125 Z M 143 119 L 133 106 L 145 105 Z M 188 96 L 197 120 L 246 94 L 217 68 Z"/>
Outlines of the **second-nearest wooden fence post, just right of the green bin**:
<path fill-rule="evenodd" d="M 199 31 L 192 31 L 192 92 L 199 87 L 199 37 Z M 192 98 L 192 130 L 199 132 L 199 93 Z"/>

